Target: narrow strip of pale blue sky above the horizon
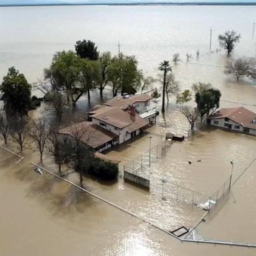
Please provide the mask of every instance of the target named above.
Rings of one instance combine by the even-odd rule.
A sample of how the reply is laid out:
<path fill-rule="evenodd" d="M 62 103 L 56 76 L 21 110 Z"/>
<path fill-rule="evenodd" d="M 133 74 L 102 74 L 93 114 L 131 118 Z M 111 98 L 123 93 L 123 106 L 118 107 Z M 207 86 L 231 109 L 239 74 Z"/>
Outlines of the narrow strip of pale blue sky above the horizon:
<path fill-rule="evenodd" d="M 256 0 L 0 0 L 0 5 L 47 3 L 135 3 L 135 2 L 256 2 Z"/>

